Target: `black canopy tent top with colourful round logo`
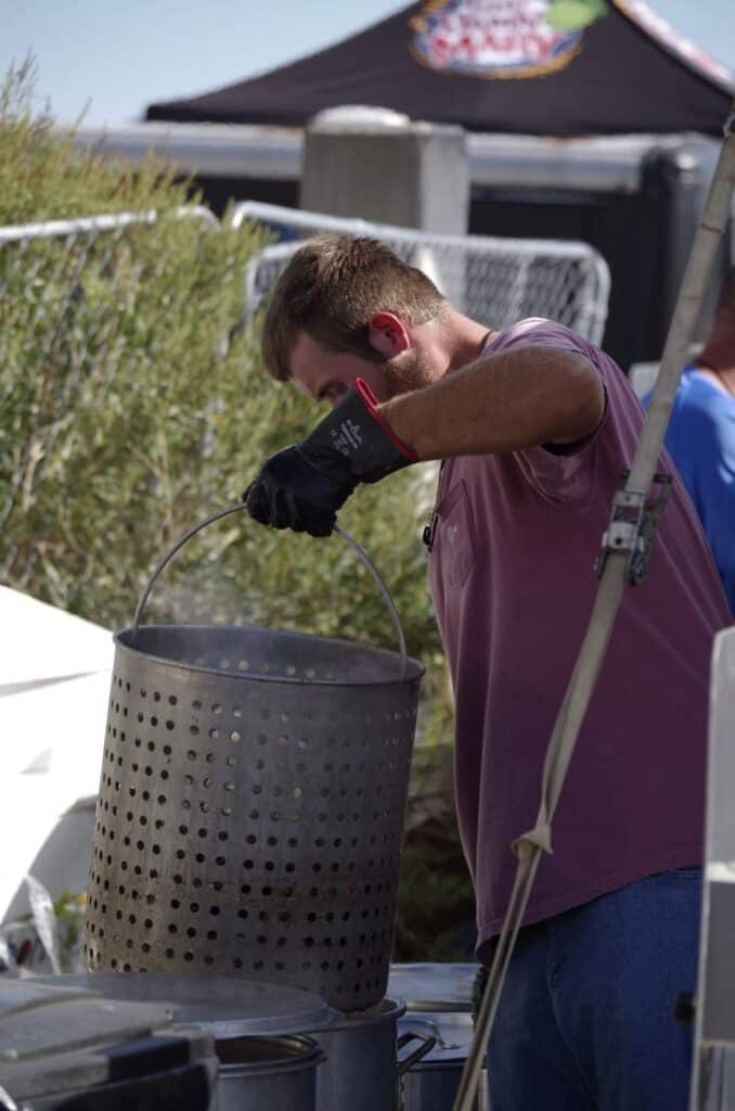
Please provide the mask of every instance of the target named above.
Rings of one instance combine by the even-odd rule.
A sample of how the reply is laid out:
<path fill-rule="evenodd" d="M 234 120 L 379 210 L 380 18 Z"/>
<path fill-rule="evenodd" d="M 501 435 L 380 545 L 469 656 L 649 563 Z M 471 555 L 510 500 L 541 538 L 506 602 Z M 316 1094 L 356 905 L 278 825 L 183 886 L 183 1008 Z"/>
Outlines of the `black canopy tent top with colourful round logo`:
<path fill-rule="evenodd" d="M 375 104 L 484 132 L 722 134 L 731 81 L 638 0 L 422 0 L 290 66 L 151 104 L 147 119 L 301 127 Z"/>

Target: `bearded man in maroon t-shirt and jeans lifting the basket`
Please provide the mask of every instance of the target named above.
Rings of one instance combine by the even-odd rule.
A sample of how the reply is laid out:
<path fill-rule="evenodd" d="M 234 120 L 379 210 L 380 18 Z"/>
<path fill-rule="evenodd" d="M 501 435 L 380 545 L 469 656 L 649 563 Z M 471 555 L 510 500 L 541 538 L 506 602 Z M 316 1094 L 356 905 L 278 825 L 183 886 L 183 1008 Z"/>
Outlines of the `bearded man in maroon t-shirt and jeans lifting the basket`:
<path fill-rule="evenodd" d="M 487 960 L 535 819 L 546 744 L 586 629 L 593 563 L 641 408 L 562 326 L 489 331 L 369 239 L 305 244 L 281 276 L 265 363 L 333 411 L 245 493 L 326 536 L 361 482 L 443 460 L 431 591 L 456 700 L 456 801 Z M 691 1035 L 709 653 L 727 609 L 674 478 L 572 761 L 491 1040 L 493 1111 L 676 1111 Z"/>

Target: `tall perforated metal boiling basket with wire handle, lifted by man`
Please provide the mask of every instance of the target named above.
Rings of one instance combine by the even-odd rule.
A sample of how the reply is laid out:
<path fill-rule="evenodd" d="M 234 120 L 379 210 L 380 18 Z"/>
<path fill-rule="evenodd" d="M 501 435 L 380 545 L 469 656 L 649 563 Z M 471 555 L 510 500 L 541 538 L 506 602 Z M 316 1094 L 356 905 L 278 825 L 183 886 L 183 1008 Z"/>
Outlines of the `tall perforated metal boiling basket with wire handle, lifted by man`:
<path fill-rule="evenodd" d="M 419 684 L 389 652 L 260 628 L 117 633 L 87 968 L 288 983 L 340 1010 L 387 981 Z"/>

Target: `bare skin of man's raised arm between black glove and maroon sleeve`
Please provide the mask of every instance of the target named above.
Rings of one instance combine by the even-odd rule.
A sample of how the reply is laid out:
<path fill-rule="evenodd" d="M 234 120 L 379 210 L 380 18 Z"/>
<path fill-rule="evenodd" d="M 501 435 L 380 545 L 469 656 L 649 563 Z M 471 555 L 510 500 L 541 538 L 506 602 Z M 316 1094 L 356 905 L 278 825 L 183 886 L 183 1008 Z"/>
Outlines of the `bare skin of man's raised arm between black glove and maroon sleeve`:
<path fill-rule="evenodd" d="M 481 358 L 379 412 L 426 460 L 574 443 L 594 431 L 604 407 L 585 356 L 530 344 Z"/>

